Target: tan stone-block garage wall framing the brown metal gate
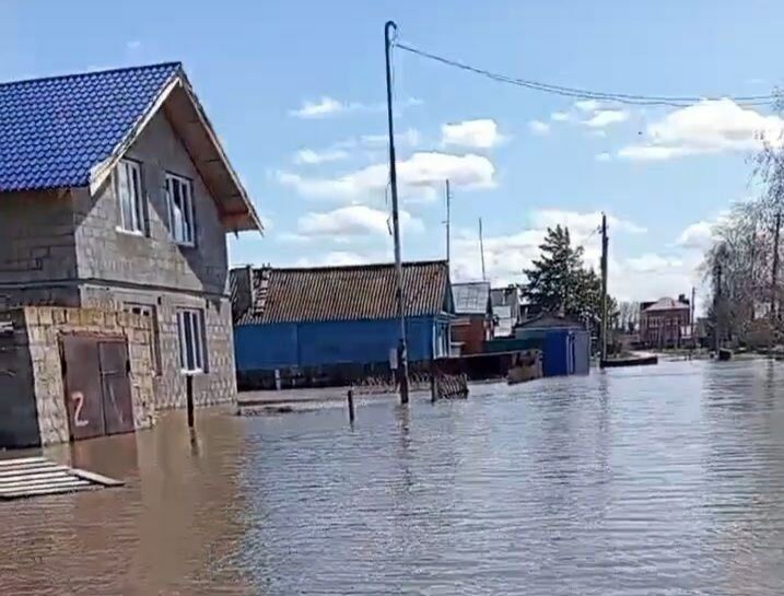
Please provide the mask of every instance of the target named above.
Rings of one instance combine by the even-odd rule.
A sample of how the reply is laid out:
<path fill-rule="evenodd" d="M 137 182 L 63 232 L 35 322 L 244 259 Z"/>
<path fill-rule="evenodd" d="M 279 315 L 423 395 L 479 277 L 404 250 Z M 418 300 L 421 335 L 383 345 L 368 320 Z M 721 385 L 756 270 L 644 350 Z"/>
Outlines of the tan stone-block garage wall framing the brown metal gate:
<path fill-rule="evenodd" d="M 60 359 L 60 339 L 69 334 L 122 336 L 127 339 L 134 426 L 144 429 L 153 424 L 155 401 L 150 358 L 151 330 L 144 317 L 98 308 L 28 306 L 7 313 L 3 319 L 13 323 L 17 351 L 28 354 L 33 386 L 28 399 L 35 401 L 35 409 L 30 410 L 37 412 L 42 445 L 69 440 Z M 17 408 L 17 411 L 22 410 Z M 17 425 L 26 424 L 30 424 L 28 420 L 17 421 Z"/>

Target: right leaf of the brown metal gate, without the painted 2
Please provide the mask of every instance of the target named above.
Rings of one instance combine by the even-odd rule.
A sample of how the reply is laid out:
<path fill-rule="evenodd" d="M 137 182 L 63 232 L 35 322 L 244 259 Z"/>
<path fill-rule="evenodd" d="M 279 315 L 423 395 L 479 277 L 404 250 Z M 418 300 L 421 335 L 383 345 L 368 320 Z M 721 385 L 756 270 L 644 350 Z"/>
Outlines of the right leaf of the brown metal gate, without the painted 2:
<path fill-rule="evenodd" d="M 101 385 L 103 389 L 106 434 L 133 432 L 133 402 L 128 378 L 128 348 L 126 342 L 98 343 Z"/>

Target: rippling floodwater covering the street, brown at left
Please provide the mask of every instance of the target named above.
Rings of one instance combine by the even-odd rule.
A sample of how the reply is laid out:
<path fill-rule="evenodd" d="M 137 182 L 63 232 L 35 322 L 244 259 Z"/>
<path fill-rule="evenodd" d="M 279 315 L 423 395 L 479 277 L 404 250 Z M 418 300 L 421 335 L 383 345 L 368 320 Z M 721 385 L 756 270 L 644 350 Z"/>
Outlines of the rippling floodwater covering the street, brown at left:
<path fill-rule="evenodd" d="M 784 364 L 197 424 L 48 452 L 127 486 L 0 502 L 0 592 L 784 593 Z"/>

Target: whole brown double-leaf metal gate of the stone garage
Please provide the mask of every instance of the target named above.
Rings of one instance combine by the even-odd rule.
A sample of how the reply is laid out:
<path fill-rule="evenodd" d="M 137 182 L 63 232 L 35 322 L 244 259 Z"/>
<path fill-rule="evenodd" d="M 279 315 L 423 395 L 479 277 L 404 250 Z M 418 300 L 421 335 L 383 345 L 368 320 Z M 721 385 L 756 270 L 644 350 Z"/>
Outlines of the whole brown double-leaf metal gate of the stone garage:
<path fill-rule="evenodd" d="M 72 441 L 133 431 L 124 338 L 62 338 L 66 408 Z"/>

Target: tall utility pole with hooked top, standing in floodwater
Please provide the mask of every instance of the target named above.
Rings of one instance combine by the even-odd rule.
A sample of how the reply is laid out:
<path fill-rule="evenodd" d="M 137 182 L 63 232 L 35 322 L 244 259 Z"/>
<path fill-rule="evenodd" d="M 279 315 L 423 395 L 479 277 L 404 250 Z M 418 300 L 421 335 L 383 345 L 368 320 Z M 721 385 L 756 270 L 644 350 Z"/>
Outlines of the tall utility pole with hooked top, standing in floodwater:
<path fill-rule="evenodd" d="M 391 101 L 391 33 L 397 32 L 394 21 L 384 25 L 384 55 L 387 77 L 387 124 L 389 126 L 389 186 L 393 202 L 393 236 L 395 238 L 395 270 L 397 272 L 397 312 L 400 317 L 400 341 L 398 343 L 398 377 L 400 381 L 400 404 L 408 404 L 408 349 L 406 347 L 406 303 L 402 292 L 402 257 L 400 254 L 400 217 L 397 198 L 397 163 L 395 156 L 395 128 Z"/>

